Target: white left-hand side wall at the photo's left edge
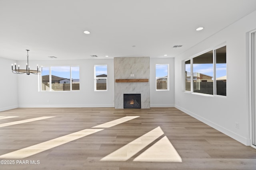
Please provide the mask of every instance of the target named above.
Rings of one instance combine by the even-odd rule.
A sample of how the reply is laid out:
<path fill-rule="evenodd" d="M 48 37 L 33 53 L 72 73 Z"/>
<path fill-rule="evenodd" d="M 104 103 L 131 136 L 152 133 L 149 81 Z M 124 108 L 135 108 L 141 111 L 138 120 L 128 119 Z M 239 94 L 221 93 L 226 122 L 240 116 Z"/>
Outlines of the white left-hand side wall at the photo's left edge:
<path fill-rule="evenodd" d="M 11 71 L 11 64 L 15 62 L 0 57 L 0 111 L 18 107 L 17 75 Z"/>

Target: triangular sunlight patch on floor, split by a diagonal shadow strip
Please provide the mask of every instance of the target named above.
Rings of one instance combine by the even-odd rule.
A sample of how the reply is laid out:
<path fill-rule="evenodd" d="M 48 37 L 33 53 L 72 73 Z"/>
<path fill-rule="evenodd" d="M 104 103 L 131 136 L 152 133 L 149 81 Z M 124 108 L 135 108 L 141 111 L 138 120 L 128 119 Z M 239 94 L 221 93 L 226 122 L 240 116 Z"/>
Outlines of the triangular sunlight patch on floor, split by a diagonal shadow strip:
<path fill-rule="evenodd" d="M 164 135 L 161 127 L 142 135 L 134 141 L 103 157 L 101 161 L 127 161 Z M 134 162 L 182 162 L 182 159 L 169 139 L 164 136 L 151 147 L 134 158 Z"/>

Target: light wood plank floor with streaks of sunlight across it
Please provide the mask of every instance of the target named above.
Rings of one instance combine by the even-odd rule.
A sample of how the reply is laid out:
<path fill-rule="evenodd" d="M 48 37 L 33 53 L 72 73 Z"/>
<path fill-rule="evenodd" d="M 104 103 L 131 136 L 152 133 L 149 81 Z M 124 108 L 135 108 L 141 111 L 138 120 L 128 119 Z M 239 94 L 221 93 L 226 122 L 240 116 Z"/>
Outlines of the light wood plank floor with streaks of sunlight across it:
<path fill-rule="evenodd" d="M 150 162 L 135 161 L 143 153 Z M 174 107 L 17 108 L 0 112 L 0 160 L 1 170 L 255 170 L 256 149 Z"/>

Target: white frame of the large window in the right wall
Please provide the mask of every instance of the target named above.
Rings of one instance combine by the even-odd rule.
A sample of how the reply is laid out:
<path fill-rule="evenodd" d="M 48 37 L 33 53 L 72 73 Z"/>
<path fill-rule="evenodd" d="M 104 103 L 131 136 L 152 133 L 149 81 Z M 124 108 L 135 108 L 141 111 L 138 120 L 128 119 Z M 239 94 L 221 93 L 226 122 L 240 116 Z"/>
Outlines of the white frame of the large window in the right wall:
<path fill-rule="evenodd" d="M 205 51 L 203 51 L 201 53 L 198 53 L 198 54 L 196 54 L 196 55 L 194 55 L 194 56 L 192 56 L 192 57 L 183 61 L 184 62 L 184 69 L 183 69 L 184 92 L 192 93 L 192 94 L 199 94 L 199 95 L 203 95 L 203 96 L 218 96 L 218 97 L 226 98 L 227 94 L 226 94 L 226 96 L 219 95 L 219 94 L 217 94 L 217 90 L 216 90 L 217 89 L 217 85 L 216 85 L 216 50 L 220 49 L 222 47 L 225 47 L 225 46 L 227 46 L 226 43 L 224 43 L 222 45 L 219 45 L 217 47 L 214 47 L 212 49 L 205 50 Z M 214 81 L 213 82 L 214 83 L 213 84 L 214 85 L 213 94 L 204 94 L 204 93 L 194 92 L 194 83 L 193 83 L 193 81 L 190 81 L 190 91 L 186 90 L 186 75 L 185 75 L 185 73 L 186 73 L 186 61 L 190 60 L 190 71 L 192 72 L 191 75 L 190 75 L 190 80 L 193 80 L 193 78 L 194 78 L 193 77 L 194 76 L 193 75 L 193 59 L 195 57 L 198 57 L 198 56 L 202 55 L 202 54 L 208 53 L 209 51 L 212 51 L 212 59 L 213 59 L 213 81 Z M 227 70 L 227 63 L 226 63 L 226 70 Z M 226 74 L 227 74 L 227 72 L 226 72 Z"/>

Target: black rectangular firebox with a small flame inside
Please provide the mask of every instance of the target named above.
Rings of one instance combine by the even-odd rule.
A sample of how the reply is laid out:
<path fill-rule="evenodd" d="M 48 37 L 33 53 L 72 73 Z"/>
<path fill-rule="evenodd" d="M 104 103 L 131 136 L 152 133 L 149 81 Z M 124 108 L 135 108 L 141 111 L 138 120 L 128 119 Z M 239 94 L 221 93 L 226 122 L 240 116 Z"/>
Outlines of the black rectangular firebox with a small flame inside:
<path fill-rule="evenodd" d="M 140 108 L 140 94 L 124 94 L 124 109 Z"/>

